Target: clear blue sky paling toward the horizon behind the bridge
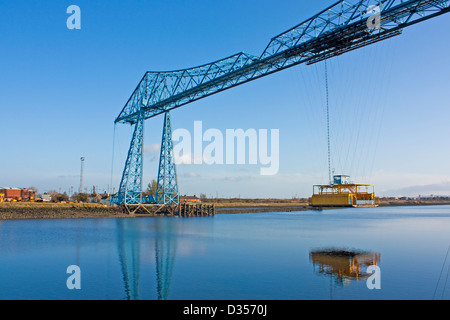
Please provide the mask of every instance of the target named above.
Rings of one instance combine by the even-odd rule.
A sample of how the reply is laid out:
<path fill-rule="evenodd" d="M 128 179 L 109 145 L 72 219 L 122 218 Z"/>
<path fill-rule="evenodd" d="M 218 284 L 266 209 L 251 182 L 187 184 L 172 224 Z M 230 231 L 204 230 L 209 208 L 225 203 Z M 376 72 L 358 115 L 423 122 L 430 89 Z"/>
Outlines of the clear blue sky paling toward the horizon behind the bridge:
<path fill-rule="evenodd" d="M 1 1 L 0 185 L 77 190 L 84 156 L 84 185 L 117 189 L 131 128 L 114 131 L 113 122 L 146 71 L 260 55 L 332 2 Z M 71 4 L 81 30 L 66 27 Z M 449 29 L 443 15 L 328 61 L 336 173 L 374 183 L 380 195 L 450 194 Z M 180 165 L 180 192 L 310 196 L 328 177 L 324 86 L 323 63 L 297 66 L 173 111 L 173 129 L 201 120 L 204 130 L 280 132 L 277 175 Z M 146 183 L 157 174 L 162 122 L 146 122 Z"/>

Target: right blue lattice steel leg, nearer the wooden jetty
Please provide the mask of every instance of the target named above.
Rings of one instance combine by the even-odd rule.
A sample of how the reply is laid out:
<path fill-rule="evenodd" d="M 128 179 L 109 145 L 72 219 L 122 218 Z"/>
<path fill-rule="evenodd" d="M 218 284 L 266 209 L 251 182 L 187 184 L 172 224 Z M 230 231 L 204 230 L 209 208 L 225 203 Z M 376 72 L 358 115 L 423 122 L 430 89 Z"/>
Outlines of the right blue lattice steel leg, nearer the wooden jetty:
<path fill-rule="evenodd" d="M 156 202 L 158 204 L 178 205 L 177 172 L 173 157 L 172 126 L 170 113 L 164 115 L 164 128 L 161 141 L 161 154 L 159 158 L 158 184 L 156 188 Z"/>

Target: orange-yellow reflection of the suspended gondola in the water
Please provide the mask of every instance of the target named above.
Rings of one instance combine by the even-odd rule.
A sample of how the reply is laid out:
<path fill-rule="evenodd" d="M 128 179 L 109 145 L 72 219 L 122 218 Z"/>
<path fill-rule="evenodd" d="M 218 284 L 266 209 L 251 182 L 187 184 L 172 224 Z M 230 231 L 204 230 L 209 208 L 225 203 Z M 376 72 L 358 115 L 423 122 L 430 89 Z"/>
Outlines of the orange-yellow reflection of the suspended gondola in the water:
<path fill-rule="evenodd" d="M 336 284 L 346 285 L 352 280 L 362 280 L 370 276 L 367 267 L 380 263 L 378 252 L 362 250 L 326 248 L 310 251 L 314 271 L 330 276 Z"/>

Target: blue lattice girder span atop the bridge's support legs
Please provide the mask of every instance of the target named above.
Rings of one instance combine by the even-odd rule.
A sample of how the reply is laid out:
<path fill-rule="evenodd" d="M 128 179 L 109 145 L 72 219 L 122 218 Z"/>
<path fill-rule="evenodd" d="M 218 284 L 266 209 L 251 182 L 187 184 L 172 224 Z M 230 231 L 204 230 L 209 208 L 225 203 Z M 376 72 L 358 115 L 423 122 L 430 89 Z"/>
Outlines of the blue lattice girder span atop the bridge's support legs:
<path fill-rule="evenodd" d="M 136 123 L 212 94 L 302 64 L 316 63 L 401 34 L 450 11 L 447 0 L 341 0 L 272 38 L 259 56 L 238 53 L 199 67 L 147 72 L 116 123 Z M 379 13 L 379 26 L 368 20 Z"/>

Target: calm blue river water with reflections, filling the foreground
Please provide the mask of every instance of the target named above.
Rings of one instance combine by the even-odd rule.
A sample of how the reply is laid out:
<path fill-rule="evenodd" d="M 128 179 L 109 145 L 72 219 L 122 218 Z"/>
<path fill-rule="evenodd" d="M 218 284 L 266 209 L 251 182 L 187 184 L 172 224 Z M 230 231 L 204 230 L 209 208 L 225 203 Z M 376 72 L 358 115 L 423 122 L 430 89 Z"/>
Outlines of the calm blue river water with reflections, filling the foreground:
<path fill-rule="evenodd" d="M 0 299 L 448 300 L 449 245 L 450 206 L 6 220 Z"/>

